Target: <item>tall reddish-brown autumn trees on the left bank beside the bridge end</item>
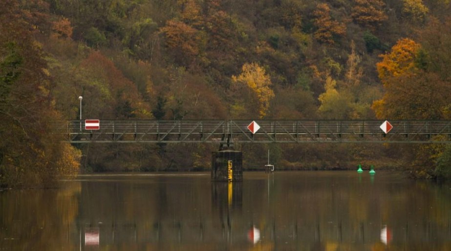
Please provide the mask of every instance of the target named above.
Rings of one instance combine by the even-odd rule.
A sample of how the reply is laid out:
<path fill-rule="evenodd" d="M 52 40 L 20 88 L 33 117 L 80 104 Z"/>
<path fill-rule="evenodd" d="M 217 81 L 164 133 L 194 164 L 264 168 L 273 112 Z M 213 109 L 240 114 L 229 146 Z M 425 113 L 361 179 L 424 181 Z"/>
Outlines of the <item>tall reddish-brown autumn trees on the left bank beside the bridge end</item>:
<path fill-rule="evenodd" d="M 49 133 L 55 129 L 51 121 L 62 117 L 32 37 L 41 19 L 30 20 L 17 8 L 6 1 L 0 10 L 0 186 L 52 186 L 62 175 L 78 173 L 81 153 L 62 135 Z"/>

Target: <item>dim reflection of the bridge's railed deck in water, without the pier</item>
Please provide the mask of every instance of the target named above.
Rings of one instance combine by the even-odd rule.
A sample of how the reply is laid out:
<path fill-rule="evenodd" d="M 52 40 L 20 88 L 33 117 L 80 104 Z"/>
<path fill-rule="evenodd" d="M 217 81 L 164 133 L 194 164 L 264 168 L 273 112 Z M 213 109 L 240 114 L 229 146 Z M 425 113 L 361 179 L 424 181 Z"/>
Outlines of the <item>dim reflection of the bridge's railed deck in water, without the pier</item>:
<path fill-rule="evenodd" d="M 80 226 L 81 242 L 86 233 L 95 229 L 101 245 L 127 243 L 223 243 L 249 244 L 251 222 L 212 222 L 162 220 L 151 225 L 139 223 L 86 223 Z M 259 242 L 273 244 L 314 244 L 323 242 L 372 244 L 380 242 L 446 242 L 451 239 L 451 227 L 431 222 L 407 222 L 403 226 L 382 223 L 360 223 L 351 226 L 342 222 L 281 222 L 270 220 L 264 226 L 255 223 L 260 232 Z M 385 236 L 383 236 L 386 234 Z"/>

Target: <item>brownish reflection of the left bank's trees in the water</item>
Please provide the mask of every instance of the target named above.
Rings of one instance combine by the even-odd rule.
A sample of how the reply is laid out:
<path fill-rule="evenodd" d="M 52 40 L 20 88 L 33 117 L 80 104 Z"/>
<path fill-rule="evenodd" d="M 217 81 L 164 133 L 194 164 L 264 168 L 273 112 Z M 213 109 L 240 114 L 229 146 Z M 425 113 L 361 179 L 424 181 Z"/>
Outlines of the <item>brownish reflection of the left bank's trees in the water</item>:
<path fill-rule="evenodd" d="M 0 192 L 1 250 L 78 250 L 72 234 L 78 232 L 80 182 L 59 189 Z"/>

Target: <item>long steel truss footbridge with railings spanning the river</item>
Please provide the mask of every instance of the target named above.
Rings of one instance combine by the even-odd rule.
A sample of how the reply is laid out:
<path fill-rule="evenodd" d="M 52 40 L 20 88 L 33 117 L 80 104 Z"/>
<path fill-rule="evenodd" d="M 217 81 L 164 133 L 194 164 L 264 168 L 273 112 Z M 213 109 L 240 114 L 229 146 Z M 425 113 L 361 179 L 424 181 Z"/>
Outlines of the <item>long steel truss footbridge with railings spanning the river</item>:
<path fill-rule="evenodd" d="M 71 143 L 451 143 L 451 120 L 100 120 L 85 130 L 84 120 L 55 122 L 55 133 Z"/>

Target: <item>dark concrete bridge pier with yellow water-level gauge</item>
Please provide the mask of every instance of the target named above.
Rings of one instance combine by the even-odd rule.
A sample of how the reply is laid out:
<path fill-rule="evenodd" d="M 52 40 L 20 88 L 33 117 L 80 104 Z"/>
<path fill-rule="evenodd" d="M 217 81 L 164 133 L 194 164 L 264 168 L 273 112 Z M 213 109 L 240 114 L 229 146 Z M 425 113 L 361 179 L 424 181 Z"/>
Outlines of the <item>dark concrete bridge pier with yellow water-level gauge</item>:
<path fill-rule="evenodd" d="M 212 181 L 243 181 L 243 153 L 234 149 L 232 137 L 221 143 L 219 151 L 212 153 Z"/>

